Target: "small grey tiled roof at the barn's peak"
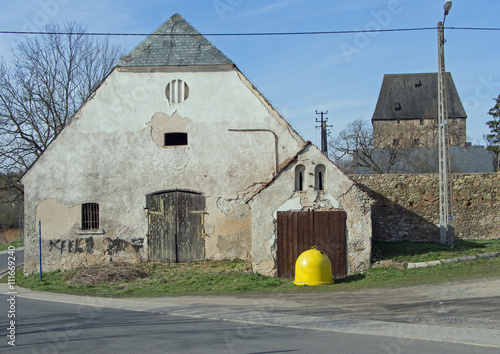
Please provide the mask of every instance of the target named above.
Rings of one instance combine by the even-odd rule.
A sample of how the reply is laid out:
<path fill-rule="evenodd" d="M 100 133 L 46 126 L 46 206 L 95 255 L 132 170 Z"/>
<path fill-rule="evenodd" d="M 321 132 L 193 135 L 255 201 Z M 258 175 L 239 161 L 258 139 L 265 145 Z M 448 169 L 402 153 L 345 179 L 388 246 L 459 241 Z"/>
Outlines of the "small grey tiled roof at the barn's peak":
<path fill-rule="evenodd" d="M 227 65 L 233 62 L 195 30 L 181 15 L 173 15 L 117 66 Z"/>

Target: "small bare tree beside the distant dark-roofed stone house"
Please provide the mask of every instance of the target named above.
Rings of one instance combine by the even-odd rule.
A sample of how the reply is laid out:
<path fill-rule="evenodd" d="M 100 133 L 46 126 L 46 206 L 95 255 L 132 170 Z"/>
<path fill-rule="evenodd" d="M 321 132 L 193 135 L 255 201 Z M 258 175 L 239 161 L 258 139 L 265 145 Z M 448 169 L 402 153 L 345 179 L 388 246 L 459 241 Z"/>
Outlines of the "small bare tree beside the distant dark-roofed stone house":
<path fill-rule="evenodd" d="M 349 123 L 347 129 L 330 141 L 330 157 L 346 173 L 358 169 L 369 169 L 375 173 L 389 173 L 398 157 L 404 153 L 401 142 L 403 134 L 398 139 L 375 135 L 372 127 L 365 120 L 358 118 Z"/>

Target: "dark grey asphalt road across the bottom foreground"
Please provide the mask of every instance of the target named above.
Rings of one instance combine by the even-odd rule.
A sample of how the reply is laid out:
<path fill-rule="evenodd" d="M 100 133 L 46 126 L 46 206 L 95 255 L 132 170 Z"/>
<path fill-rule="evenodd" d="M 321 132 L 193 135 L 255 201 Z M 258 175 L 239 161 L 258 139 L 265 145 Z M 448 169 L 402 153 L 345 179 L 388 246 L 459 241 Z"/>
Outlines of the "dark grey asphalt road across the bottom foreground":
<path fill-rule="evenodd" d="M 9 296 L 0 295 L 2 328 Z M 498 353 L 498 348 L 251 325 L 16 297 L 2 353 Z"/>

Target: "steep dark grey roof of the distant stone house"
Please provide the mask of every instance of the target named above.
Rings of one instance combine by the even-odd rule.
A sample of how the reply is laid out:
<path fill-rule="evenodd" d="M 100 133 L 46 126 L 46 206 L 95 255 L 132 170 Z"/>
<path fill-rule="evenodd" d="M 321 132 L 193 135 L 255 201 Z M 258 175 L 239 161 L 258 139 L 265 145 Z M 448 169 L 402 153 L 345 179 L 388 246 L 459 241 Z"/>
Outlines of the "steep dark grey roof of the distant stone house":
<path fill-rule="evenodd" d="M 429 119 L 438 115 L 437 73 L 386 74 L 372 121 Z M 451 73 L 446 73 L 448 117 L 467 118 Z"/>

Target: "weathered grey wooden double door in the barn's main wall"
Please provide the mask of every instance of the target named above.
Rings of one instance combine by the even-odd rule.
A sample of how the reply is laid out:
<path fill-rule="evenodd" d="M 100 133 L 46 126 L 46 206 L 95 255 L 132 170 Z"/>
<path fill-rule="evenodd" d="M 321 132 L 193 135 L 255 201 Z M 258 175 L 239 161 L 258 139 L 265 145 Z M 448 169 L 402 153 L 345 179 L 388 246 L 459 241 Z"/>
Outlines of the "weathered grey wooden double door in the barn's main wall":
<path fill-rule="evenodd" d="M 149 259 L 183 263 L 205 258 L 205 197 L 174 191 L 148 195 Z"/>

